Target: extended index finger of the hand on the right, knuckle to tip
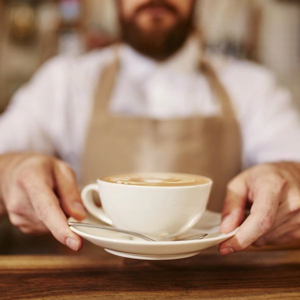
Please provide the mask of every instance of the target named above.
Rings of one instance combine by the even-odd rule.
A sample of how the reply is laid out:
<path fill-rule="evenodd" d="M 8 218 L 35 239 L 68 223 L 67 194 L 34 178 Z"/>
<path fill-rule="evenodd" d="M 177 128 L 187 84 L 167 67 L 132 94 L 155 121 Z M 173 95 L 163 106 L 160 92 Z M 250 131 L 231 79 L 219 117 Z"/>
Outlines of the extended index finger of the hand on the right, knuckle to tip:
<path fill-rule="evenodd" d="M 247 248 L 271 227 L 284 181 L 279 176 L 261 178 L 253 186 L 253 204 L 250 215 L 241 224 L 237 233 L 219 245 L 222 255 Z"/>

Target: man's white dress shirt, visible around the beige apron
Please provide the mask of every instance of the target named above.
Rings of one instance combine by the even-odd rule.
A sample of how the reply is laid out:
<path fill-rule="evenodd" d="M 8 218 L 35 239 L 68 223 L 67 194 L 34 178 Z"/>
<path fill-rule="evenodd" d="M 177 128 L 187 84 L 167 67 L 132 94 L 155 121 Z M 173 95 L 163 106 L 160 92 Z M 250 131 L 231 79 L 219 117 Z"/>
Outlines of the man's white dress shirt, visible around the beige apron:
<path fill-rule="evenodd" d="M 195 39 L 160 63 L 128 45 L 120 47 L 119 55 L 111 113 L 167 119 L 219 112 L 217 99 L 197 71 Z M 57 154 L 79 175 L 95 85 L 113 57 L 108 47 L 82 56 L 57 56 L 42 65 L 0 115 L 0 153 Z M 300 117 L 289 92 L 262 66 L 218 56 L 213 61 L 240 124 L 243 166 L 300 161 Z"/>

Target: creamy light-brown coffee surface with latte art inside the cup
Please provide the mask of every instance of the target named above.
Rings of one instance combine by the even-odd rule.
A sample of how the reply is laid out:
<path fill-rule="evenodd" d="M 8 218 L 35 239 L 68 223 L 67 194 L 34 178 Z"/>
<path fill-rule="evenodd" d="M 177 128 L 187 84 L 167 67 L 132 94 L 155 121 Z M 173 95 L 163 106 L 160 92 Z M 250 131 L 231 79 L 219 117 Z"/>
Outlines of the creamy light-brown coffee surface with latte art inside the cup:
<path fill-rule="evenodd" d="M 102 177 L 101 180 L 127 185 L 143 186 L 187 186 L 199 185 L 209 182 L 209 179 L 201 176 L 191 176 L 188 174 L 169 173 L 132 173 Z"/>

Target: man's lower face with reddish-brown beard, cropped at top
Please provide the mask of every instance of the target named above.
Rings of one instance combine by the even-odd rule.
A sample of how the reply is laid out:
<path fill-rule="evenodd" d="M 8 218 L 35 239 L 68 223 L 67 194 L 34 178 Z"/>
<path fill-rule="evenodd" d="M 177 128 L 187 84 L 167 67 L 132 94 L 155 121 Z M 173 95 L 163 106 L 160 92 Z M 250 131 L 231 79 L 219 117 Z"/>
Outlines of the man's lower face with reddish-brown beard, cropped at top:
<path fill-rule="evenodd" d="M 121 36 L 155 59 L 175 52 L 192 29 L 195 0 L 117 0 Z"/>

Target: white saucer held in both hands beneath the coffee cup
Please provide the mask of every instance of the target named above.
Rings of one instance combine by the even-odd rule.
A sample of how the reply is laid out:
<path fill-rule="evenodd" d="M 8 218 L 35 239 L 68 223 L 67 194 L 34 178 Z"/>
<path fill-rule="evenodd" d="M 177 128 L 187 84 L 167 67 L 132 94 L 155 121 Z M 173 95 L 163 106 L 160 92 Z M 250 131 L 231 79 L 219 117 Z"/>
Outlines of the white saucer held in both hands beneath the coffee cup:
<path fill-rule="evenodd" d="M 68 220 L 76 221 L 72 217 L 69 217 Z M 90 214 L 82 222 L 103 224 Z M 84 239 L 103 247 L 105 251 L 111 254 L 128 258 L 162 260 L 196 255 L 200 251 L 219 244 L 233 236 L 238 229 L 236 228 L 224 234 L 219 231 L 219 223 L 220 214 L 206 210 L 195 227 L 184 233 L 185 236 L 200 232 L 208 233 L 203 239 L 155 242 L 137 238 L 133 240 L 131 235 L 108 230 L 80 226 L 70 226 L 70 229 Z"/>

